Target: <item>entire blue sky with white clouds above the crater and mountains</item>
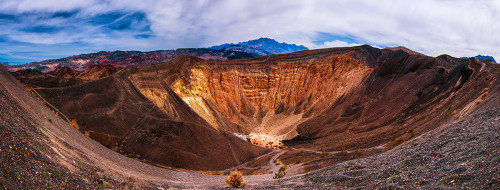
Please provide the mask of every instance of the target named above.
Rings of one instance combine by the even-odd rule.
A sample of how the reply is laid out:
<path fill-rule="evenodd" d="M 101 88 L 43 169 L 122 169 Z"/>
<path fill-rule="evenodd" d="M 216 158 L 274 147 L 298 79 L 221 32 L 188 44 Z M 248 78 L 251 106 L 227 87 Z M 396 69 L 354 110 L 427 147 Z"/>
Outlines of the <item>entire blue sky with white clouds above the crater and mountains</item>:
<path fill-rule="evenodd" d="M 2 0 L 0 62 L 208 47 L 269 37 L 500 58 L 500 1 Z"/>

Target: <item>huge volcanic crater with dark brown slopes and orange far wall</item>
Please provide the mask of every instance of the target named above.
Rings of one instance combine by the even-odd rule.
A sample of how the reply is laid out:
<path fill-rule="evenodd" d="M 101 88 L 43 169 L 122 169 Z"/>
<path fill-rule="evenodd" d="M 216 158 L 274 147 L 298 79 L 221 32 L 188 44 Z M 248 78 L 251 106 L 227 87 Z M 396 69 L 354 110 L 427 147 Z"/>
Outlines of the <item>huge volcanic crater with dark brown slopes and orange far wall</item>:
<path fill-rule="evenodd" d="M 275 160 L 300 174 L 495 108 L 498 72 L 477 58 L 365 45 L 227 61 L 182 55 L 50 87 L 16 76 L 82 133 L 142 162 L 252 174 L 272 172 Z M 259 167 L 267 161 L 270 170 Z"/>

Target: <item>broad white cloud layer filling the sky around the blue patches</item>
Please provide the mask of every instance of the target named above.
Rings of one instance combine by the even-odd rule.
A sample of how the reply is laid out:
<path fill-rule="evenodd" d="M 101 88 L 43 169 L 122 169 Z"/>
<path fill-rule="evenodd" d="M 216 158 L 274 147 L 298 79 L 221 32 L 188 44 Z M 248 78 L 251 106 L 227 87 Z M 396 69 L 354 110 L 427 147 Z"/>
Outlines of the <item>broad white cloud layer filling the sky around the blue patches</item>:
<path fill-rule="evenodd" d="M 79 17 L 109 11 L 141 11 L 151 22 L 154 39 L 102 36 L 87 31 L 67 39 L 106 41 L 115 48 L 153 50 L 207 47 L 259 37 L 303 44 L 309 48 L 373 44 L 406 46 L 428 55 L 500 58 L 499 1 L 371 1 L 371 0 L 7 0 L 0 13 L 32 13 L 78 9 Z M 319 33 L 352 37 L 356 43 L 327 39 L 316 44 Z M 93 37 L 97 36 L 97 37 Z M 36 40 L 37 38 L 31 37 Z M 52 41 L 55 41 L 54 39 Z M 65 41 L 65 40 L 62 40 Z M 50 42 L 50 41 L 49 41 Z M 142 42 L 142 43 L 141 43 Z M 142 45 L 141 45 L 142 44 Z M 132 47 L 137 45 L 137 47 Z M 94 47 L 97 48 L 97 47 Z"/>

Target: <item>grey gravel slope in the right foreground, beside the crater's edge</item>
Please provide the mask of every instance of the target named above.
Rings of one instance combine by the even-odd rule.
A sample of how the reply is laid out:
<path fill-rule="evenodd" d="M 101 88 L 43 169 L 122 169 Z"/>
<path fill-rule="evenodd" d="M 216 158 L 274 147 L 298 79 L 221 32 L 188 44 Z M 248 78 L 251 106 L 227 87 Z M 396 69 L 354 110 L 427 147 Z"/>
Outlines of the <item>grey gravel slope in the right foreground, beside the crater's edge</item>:
<path fill-rule="evenodd" d="M 252 188 L 499 189 L 500 108 L 443 125 L 374 157 Z"/>

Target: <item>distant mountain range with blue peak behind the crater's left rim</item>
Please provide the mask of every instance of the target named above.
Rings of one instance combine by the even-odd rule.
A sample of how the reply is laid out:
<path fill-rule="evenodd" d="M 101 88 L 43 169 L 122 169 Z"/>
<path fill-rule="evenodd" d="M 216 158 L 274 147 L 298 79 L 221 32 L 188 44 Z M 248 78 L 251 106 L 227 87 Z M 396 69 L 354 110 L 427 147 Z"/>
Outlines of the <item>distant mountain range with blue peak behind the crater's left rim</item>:
<path fill-rule="evenodd" d="M 191 55 L 206 60 L 232 60 L 290 53 L 301 50 L 308 49 L 304 46 L 279 43 L 269 38 L 260 38 L 237 44 L 222 44 L 210 48 L 180 48 L 177 50 L 157 50 L 150 52 L 101 51 L 97 53 L 74 55 L 61 59 L 32 62 L 23 65 L 11 65 L 8 66 L 8 70 L 10 72 L 20 70 L 49 72 L 56 68 L 69 67 L 77 71 L 83 71 L 93 65 L 113 65 L 119 67 L 149 65 L 173 60 L 180 55 Z"/>

